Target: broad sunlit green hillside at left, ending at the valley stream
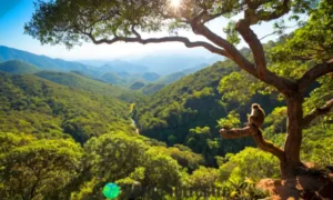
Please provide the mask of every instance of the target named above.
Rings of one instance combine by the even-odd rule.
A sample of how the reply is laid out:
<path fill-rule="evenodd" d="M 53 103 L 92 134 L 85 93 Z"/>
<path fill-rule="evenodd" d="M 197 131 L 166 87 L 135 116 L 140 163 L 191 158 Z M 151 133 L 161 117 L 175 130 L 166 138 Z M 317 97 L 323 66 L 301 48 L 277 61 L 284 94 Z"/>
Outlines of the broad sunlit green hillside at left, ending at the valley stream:
<path fill-rule="evenodd" d="M 36 76 L 0 73 L 0 130 L 79 142 L 122 130 L 134 133 L 129 104 L 109 96 L 68 88 Z"/>

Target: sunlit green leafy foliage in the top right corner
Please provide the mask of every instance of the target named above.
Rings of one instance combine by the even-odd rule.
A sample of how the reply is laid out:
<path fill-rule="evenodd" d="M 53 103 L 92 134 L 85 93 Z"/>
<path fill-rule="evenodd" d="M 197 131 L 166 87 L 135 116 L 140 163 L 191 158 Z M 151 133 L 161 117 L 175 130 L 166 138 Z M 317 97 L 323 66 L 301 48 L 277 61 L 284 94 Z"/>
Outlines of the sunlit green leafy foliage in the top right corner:
<path fill-rule="evenodd" d="M 304 69 L 295 70 L 293 63 L 305 61 L 303 63 L 306 64 L 306 61 L 332 58 L 333 40 L 332 37 L 327 37 L 332 36 L 332 10 L 333 6 L 329 0 L 320 1 L 319 7 L 310 11 L 310 18 L 304 26 L 294 31 L 283 46 L 273 50 L 272 59 L 274 61 L 291 63 L 291 66 L 284 67 L 284 74 L 289 73 L 289 77 L 296 78 L 293 76 L 302 73 Z"/>

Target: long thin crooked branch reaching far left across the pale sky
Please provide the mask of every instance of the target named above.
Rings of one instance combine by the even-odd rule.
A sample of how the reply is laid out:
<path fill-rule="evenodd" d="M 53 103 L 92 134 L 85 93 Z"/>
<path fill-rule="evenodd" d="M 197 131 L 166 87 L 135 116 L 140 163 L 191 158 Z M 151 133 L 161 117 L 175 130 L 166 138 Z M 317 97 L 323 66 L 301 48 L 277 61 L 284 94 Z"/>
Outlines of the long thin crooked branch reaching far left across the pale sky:
<path fill-rule="evenodd" d="M 185 47 L 188 48 L 196 48 L 196 47 L 202 47 L 205 48 L 206 50 L 220 54 L 220 56 L 224 56 L 224 57 L 229 57 L 229 54 L 225 52 L 225 50 L 220 49 L 218 47 L 214 47 L 208 42 L 203 42 L 203 41 L 194 41 L 191 42 L 188 38 L 184 37 L 164 37 L 164 38 L 150 38 L 150 39 L 142 39 L 141 36 L 135 31 L 133 32 L 137 38 L 129 38 L 129 37 L 115 37 L 113 39 L 95 39 L 92 33 L 84 33 L 94 44 L 101 44 L 101 43 L 108 43 L 108 44 L 112 44 L 119 41 L 123 41 L 123 42 L 138 42 L 138 43 L 142 43 L 142 44 L 148 44 L 148 43 L 162 43 L 162 42 L 182 42 L 184 43 Z"/>

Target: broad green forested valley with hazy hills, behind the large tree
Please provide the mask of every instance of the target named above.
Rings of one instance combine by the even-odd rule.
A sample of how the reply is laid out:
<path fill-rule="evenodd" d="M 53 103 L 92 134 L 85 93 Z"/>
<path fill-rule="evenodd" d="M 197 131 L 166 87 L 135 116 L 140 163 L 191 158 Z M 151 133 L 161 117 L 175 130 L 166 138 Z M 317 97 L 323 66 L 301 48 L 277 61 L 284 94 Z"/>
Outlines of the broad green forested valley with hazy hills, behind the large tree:
<path fill-rule="evenodd" d="M 275 44 L 271 42 L 265 48 L 270 49 Z M 246 58 L 251 56 L 249 49 L 241 52 Z M 111 72 L 118 77 L 123 76 L 122 80 L 128 79 L 128 82 L 121 83 L 95 77 L 99 70 L 90 69 L 90 72 L 81 70 L 54 70 L 20 60 L 0 63 L 0 143 L 1 138 L 4 139 L 2 141 L 8 141 L 12 140 L 12 137 L 19 137 L 14 140 L 27 142 L 17 144 L 17 148 L 39 147 L 38 141 L 42 140 L 60 143 L 70 141 L 72 143 L 69 147 L 80 143 L 81 147 L 75 147 L 79 148 L 75 151 L 84 152 L 89 157 L 92 152 L 97 152 L 121 161 L 120 153 L 128 154 L 123 157 L 127 160 L 121 161 L 128 164 L 127 169 L 115 164 L 113 166 L 118 171 L 113 171 L 115 174 L 122 170 L 127 174 L 143 167 L 149 169 L 153 163 L 139 160 L 147 157 L 153 160 L 162 153 L 164 164 L 173 164 L 176 180 L 181 176 L 179 168 L 184 168 L 189 171 L 191 180 L 199 179 L 195 177 L 198 173 L 211 179 L 205 186 L 213 186 L 213 182 L 219 180 L 219 173 L 225 180 L 233 177 L 244 179 L 245 177 L 233 169 L 233 166 L 239 162 L 251 162 L 251 167 L 242 167 L 242 170 L 258 170 L 252 159 L 263 161 L 271 169 L 262 169 L 256 173 L 248 172 L 246 177 L 259 179 L 278 176 L 278 160 L 259 151 L 252 138 L 226 140 L 219 134 L 220 123 L 225 123 L 234 117 L 240 119 L 238 124 L 246 122 L 251 102 L 260 103 L 266 111 L 268 120 L 264 124 L 266 138 L 282 146 L 281 132 L 285 131 L 283 128 L 285 116 L 281 116 L 285 112 L 285 104 L 275 100 L 274 94 L 244 91 L 248 92 L 248 97 L 243 98 L 233 94 L 230 84 L 224 86 L 224 80 L 232 81 L 234 74 L 242 76 L 230 60 L 218 61 L 210 67 L 202 64 L 193 70 L 188 69 L 164 77 L 151 72 L 139 73 L 140 70 L 134 72 L 133 70 L 137 70 L 134 67 L 128 72 Z M 135 82 L 129 87 L 131 76 L 135 78 Z M 235 87 L 242 88 L 236 84 L 239 83 L 235 83 Z M 243 84 L 248 84 L 246 81 Z M 329 147 L 332 132 L 327 130 L 323 132 L 325 137 L 315 137 L 316 127 L 306 130 L 304 150 L 313 148 L 311 142 L 321 143 L 323 148 Z M 27 137 L 32 139 L 28 140 Z M 69 148 L 56 143 L 52 146 Z M 121 149 L 123 144 L 127 148 Z M 113 150 L 118 156 L 104 152 L 118 146 L 120 149 Z M 147 149 L 153 154 L 143 153 Z M 138 151 L 144 158 L 138 154 L 135 157 L 140 159 L 135 161 L 134 154 L 130 151 Z M 304 153 L 303 158 L 319 159 L 323 151 L 314 154 Z M 129 158 L 134 160 L 129 161 Z M 81 170 L 91 168 L 88 158 L 81 159 L 87 162 Z M 95 161 L 99 161 L 99 170 L 109 173 L 107 172 L 109 164 L 100 159 Z M 327 163 L 321 159 L 317 162 Z M 72 180 L 87 184 L 91 176 L 99 177 L 88 171 L 88 177 L 83 179 L 77 177 Z M 101 176 L 121 180 L 121 176 Z M 149 180 L 150 176 L 145 177 L 144 181 L 152 181 Z M 168 172 L 162 179 L 169 178 Z M 69 184 L 70 182 L 67 182 L 63 186 L 68 188 Z M 195 182 L 191 184 L 195 186 Z M 231 187 L 228 183 L 222 186 Z M 78 197 L 91 194 L 77 193 Z"/>

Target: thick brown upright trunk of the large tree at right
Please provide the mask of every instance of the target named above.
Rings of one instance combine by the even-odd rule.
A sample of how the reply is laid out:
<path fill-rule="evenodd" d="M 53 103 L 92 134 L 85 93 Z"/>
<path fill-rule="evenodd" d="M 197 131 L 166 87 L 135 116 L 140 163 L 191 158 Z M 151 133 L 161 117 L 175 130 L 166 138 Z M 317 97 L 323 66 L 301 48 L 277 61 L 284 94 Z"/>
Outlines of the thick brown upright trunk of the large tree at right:
<path fill-rule="evenodd" d="M 280 161 L 282 178 L 291 178 L 304 164 L 300 159 L 302 143 L 303 97 L 299 93 L 286 98 L 287 124 L 284 144 L 285 159 Z"/>

